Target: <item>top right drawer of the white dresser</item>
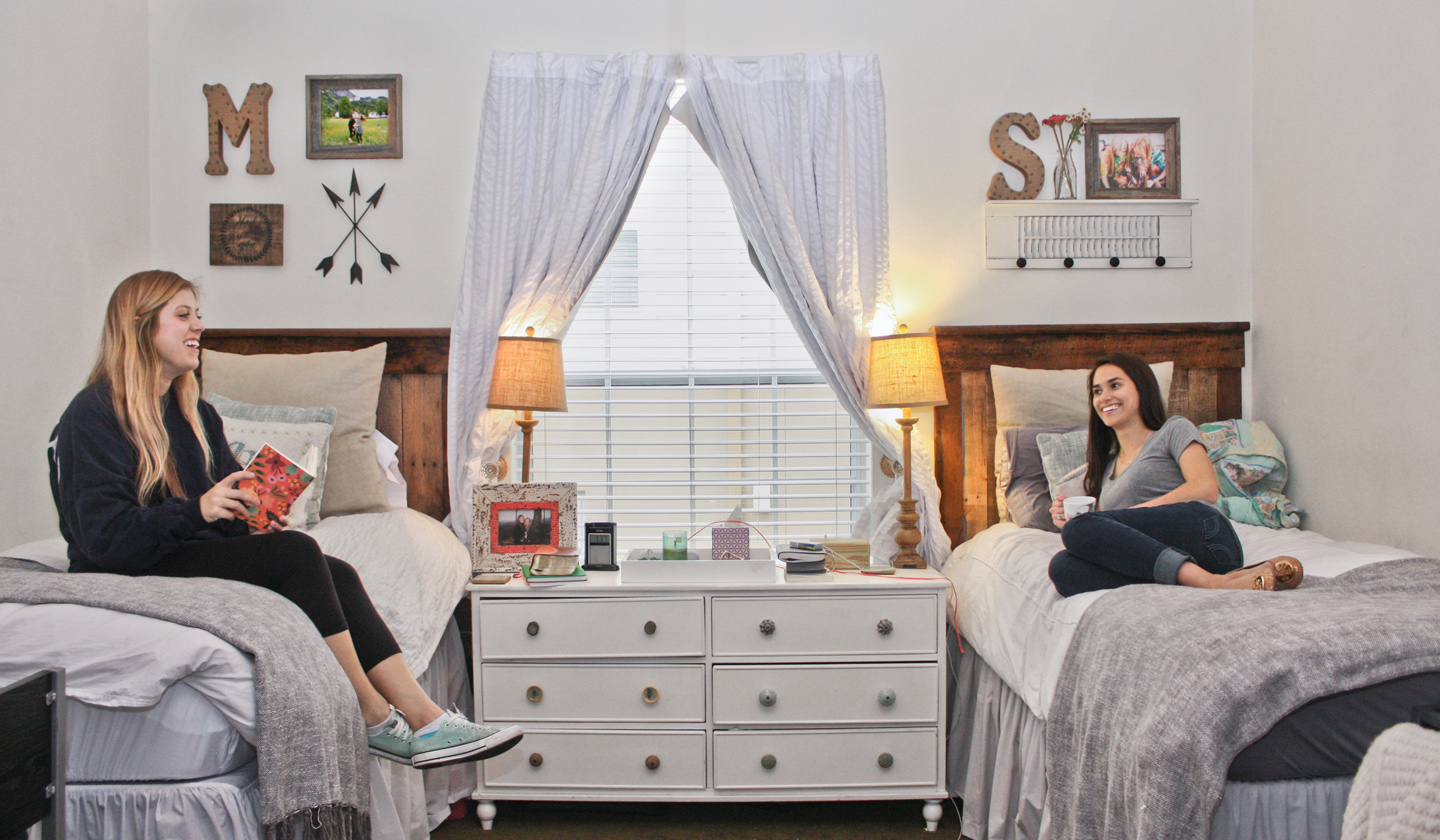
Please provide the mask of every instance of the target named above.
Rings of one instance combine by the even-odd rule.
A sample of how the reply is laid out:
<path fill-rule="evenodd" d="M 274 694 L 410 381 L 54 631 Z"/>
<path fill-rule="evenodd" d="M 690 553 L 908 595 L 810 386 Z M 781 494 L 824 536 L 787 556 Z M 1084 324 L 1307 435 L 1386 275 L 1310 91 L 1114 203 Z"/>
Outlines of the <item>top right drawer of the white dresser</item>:
<path fill-rule="evenodd" d="M 716 656 L 936 653 L 936 598 L 716 598 Z"/>

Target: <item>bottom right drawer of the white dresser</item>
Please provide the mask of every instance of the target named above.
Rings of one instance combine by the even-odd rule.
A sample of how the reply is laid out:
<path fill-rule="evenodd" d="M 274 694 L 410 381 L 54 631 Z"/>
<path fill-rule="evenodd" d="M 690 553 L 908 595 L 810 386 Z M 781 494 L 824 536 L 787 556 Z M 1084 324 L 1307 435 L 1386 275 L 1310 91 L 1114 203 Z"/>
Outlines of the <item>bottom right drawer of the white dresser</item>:
<path fill-rule="evenodd" d="M 939 782 L 936 728 L 730 730 L 714 738 L 716 790 L 933 788 Z"/>

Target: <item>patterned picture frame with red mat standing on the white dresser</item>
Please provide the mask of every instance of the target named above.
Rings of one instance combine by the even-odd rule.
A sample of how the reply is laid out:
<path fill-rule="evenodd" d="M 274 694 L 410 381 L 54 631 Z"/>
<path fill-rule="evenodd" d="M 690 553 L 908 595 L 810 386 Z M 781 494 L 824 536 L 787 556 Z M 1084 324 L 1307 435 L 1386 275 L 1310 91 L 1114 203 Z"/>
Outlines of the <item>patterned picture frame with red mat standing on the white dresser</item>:
<path fill-rule="evenodd" d="M 536 555 L 576 548 L 575 483 L 478 484 L 471 572 L 518 572 Z"/>

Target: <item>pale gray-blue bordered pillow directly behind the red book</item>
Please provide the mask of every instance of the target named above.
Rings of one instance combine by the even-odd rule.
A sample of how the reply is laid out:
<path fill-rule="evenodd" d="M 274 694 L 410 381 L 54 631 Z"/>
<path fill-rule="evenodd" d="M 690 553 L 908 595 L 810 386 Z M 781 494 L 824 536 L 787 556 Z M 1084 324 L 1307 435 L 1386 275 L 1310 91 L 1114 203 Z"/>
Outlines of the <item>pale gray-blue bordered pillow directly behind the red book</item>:
<path fill-rule="evenodd" d="M 287 458 L 304 465 L 305 451 L 318 451 L 315 480 L 305 488 L 304 520 L 292 527 L 311 529 L 320 524 L 320 507 L 325 493 L 325 463 L 330 460 L 330 435 L 336 426 L 333 408 L 298 408 L 292 405 L 255 405 L 207 392 L 204 399 L 220 412 L 225 421 L 225 438 L 235 452 L 235 460 L 243 467 L 265 444 L 279 450 Z"/>

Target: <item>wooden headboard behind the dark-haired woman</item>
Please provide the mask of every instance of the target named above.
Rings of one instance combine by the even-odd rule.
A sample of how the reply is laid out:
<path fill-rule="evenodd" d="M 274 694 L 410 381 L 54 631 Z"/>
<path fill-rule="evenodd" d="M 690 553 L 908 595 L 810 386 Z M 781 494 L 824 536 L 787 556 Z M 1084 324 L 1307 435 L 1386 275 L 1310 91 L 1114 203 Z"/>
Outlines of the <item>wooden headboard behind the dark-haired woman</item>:
<path fill-rule="evenodd" d="M 950 403 L 935 409 L 935 477 L 950 542 L 960 545 L 999 522 L 991 365 L 1089 369 L 1112 352 L 1174 362 L 1169 414 L 1202 424 L 1240 416 L 1247 330 L 1248 321 L 936 327 Z"/>

